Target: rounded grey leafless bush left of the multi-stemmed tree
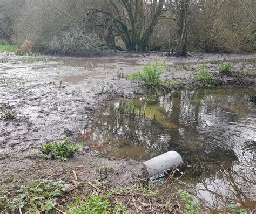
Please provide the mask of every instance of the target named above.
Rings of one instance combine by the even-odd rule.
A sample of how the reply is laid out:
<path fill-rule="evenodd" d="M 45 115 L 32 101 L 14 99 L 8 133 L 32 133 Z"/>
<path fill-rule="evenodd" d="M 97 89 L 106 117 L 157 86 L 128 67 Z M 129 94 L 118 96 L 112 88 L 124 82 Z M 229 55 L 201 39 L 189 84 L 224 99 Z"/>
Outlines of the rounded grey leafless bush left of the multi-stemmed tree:
<path fill-rule="evenodd" d="M 49 51 L 62 54 L 92 54 L 102 45 L 103 42 L 96 33 L 85 32 L 82 27 L 70 27 L 53 36 Z"/>

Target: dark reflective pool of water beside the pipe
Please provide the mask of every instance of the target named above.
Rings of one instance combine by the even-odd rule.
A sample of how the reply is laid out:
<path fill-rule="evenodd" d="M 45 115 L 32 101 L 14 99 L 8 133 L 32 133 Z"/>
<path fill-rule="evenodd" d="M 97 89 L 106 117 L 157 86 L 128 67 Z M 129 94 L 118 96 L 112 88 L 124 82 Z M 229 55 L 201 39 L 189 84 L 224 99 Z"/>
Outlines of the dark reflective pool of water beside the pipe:
<path fill-rule="evenodd" d="M 173 92 L 155 104 L 146 98 L 110 101 L 86 128 L 86 141 L 110 156 L 139 161 L 178 151 L 194 168 L 179 184 L 207 206 L 252 207 L 255 95 L 255 89 L 216 89 Z"/>

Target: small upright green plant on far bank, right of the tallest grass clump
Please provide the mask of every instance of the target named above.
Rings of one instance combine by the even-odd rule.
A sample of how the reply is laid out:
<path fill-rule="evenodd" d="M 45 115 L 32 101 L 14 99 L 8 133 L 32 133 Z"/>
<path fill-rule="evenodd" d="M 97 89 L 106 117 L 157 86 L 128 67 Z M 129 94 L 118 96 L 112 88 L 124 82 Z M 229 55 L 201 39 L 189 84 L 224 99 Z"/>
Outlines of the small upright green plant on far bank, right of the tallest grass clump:
<path fill-rule="evenodd" d="M 216 79 L 206 72 L 206 64 L 203 63 L 200 67 L 200 72 L 196 75 L 196 80 L 199 81 L 199 86 L 201 88 L 211 88 L 216 82 Z"/>

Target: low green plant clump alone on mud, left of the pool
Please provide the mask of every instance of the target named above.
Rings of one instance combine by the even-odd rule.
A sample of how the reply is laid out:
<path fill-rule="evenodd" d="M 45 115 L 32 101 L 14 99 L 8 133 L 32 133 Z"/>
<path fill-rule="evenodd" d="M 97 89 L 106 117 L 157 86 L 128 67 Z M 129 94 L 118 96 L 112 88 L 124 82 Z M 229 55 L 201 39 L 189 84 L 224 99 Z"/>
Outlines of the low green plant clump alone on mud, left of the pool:
<path fill-rule="evenodd" d="M 52 142 L 44 144 L 41 147 L 37 147 L 40 153 L 35 153 L 35 156 L 42 157 L 46 159 L 60 159 L 66 161 L 71 158 L 75 153 L 84 146 L 83 143 L 68 143 L 69 138 L 66 138 L 63 142 Z"/>

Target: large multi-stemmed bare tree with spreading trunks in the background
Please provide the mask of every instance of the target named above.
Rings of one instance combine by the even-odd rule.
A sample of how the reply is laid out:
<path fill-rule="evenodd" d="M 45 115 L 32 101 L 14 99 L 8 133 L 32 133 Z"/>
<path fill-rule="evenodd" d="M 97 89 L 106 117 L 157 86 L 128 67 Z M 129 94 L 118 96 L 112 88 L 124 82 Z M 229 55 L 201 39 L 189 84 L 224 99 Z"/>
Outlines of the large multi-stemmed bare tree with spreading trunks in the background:
<path fill-rule="evenodd" d="M 90 11 L 91 17 L 103 13 L 110 19 L 113 32 L 122 38 L 128 50 L 146 51 L 154 27 L 163 13 L 164 2 L 154 0 L 149 4 L 144 0 L 106 0 L 106 9 L 92 8 Z M 149 9 L 151 13 L 148 13 Z"/>

